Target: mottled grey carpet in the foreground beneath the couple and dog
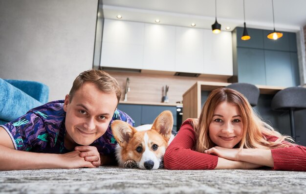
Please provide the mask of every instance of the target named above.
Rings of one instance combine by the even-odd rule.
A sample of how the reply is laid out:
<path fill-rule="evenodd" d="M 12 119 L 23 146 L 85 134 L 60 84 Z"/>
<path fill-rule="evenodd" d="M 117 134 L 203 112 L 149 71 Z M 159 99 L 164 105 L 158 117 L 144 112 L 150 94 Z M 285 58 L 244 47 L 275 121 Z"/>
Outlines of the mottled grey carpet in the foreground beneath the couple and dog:
<path fill-rule="evenodd" d="M 116 167 L 4 171 L 0 172 L 0 193 L 306 194 L 306 172 Z"/>

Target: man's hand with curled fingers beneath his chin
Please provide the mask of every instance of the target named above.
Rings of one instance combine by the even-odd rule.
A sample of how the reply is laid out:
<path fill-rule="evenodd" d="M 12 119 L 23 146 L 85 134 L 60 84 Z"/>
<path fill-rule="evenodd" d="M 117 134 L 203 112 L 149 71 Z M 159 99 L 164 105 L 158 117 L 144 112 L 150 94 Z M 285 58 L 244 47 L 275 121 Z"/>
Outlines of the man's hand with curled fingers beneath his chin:
<path fill-rule="evenodd" d="M 80 157 L 83 157 L 85 161 L 91 162 L 95 167 L 101 165 L 100 153 L 94 146 L 77 146 L 75 151 L 80 151 Z"/>

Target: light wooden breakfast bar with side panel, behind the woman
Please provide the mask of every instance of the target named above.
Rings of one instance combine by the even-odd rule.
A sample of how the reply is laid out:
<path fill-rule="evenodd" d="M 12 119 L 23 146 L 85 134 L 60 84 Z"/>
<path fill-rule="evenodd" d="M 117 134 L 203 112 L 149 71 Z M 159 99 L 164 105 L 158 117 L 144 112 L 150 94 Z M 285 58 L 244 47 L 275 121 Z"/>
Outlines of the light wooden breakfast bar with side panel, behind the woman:
<path fill-rule="evenodd" d="M 187 118 L 198 118 L 201 112 L 201 91 L 211 91 L 219 87 L 228 86 L 231 83 L 223 82 L 197 82 L 183 94 L 183 121 Z M 261 94 L 275 94 L 285 87 L 281 86 L 262 86 L 259 88 Z"/>

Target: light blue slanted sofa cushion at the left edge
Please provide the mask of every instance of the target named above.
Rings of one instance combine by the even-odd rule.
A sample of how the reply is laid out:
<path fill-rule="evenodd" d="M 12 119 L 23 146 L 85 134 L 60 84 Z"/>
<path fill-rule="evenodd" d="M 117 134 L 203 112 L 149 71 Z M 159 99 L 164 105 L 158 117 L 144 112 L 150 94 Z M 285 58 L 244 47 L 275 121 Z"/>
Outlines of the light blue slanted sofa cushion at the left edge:
<path fill-rule="evenodd" d="M 41 106 L 39 102 L 19 88 L 0 78 L 0 119 L 11 121 L 25 114 L 29 109 Z"/>

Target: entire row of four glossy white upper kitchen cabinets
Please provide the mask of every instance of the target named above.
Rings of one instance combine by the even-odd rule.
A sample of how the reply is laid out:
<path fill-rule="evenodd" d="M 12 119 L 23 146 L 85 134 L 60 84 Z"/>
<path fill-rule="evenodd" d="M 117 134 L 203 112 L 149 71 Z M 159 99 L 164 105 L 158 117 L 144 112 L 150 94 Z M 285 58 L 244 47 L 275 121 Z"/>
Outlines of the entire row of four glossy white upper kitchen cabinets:
<path fill-rule="evenodd" d="M 106 19 L 101 66 L 233 75 L 231 32 Z"/>

